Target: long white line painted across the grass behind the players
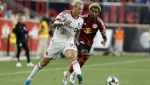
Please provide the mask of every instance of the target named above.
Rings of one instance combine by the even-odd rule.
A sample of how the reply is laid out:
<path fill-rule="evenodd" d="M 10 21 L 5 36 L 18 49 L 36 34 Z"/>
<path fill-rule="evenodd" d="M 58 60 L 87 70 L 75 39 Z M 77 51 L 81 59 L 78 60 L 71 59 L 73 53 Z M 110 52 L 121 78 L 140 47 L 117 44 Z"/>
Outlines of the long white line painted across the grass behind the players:
<path fill-rule="evenodd" d="M 92 65 L 85 65 L 84 67 L 94 67 L 94 66 L 104 66 L 104 65 L 117 65 L 117 64 L 129 64 L 129 63 L 135 63 L 135 62 L 145 62 L 150 61 L 150 58 L 148 59 L 138 59 L 138 60 L 129 60 L 129 61 L 121 61 L 121 62 L 110 62 L 110 63 L 101 63 L 101 64 L 92 64 Z M 68 67 L 62 67 L 62 68 L 53 68 L 53 69 L 42 69 L 41 71 L 50 71 L 50 70 L 66 70 Z M 137 71 L 137 70 L 135 70 Z M 0 76 L 6 76 L 6 75 L 15 75 L 15 74 L 24 74 L 24 73 L 30 73 L 31 71 L 23 71 L 23 72 L 14 72 L 14 73 L 4 73 L 0 74 Z"/>

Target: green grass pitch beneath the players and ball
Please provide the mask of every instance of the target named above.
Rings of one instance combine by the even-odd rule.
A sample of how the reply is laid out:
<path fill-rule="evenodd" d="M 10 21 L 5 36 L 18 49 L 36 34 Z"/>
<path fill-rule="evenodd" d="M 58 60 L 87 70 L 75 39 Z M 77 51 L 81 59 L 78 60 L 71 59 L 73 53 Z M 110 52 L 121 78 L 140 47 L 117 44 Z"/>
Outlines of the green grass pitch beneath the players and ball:
<path fill-rule="evenodd" d="M 33 67 L 26 67 L 26 60 L 21 63 L 23 67 L 17 68 L 15 61 L 0 62 L 0 85 L 23 85 Z M 63 72 L 69 66 L 65 58 L 53 60 L 34 77 L 31 85 L 62 85 Z M 106 78 L 113 75 L 118 77 L 120 85 L 150 85 L 150 56 L 94 55 L 83 66 L 82 75 L 82 85 L 106 85 Z M 79 85 L 77 79 L 75 85 Z"/>

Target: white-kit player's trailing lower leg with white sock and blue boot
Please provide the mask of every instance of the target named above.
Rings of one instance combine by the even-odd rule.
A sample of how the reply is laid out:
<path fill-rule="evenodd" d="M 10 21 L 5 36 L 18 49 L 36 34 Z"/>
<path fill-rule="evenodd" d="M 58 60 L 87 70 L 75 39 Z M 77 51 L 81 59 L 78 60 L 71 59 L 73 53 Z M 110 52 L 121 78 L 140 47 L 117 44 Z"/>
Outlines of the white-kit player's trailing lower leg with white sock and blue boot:
<path fill-rule="evenodd" d="M 29 75 L 29 77 L 25 81 L 24 85 L 30 85 L 34 76 L 36 76 L 37 73 L 50 62 L 50 60 L 51 60 L 51 58 L 43 57 L 43 59 L 34 67 L 31 74 Z"/>

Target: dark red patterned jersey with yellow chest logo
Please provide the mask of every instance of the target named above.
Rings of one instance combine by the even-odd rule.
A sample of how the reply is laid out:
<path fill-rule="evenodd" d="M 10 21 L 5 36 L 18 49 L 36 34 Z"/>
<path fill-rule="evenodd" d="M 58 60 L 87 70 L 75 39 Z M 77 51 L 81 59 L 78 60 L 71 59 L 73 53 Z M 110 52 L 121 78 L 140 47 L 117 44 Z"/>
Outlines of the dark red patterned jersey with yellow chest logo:
<path fill-rule="evenodd" d="M 105 24 L 99 17 L 95 21 L 90 21 L 87 14 L 83 15 L 83 20 L 84 23 L 82 29 L 80 29 L 78 41 L 83 41 L 86 45 L 92 46 L 97 31 L 105 32 Z"/>

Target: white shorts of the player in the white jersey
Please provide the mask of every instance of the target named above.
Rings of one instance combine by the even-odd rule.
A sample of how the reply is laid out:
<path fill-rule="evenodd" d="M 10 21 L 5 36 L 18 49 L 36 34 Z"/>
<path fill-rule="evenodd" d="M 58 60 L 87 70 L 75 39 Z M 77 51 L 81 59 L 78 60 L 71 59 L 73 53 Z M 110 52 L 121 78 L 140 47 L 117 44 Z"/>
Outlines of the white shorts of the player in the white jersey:
<path fill-rule="evenodd" d="M 74 45 L 74 43 L 52 41 L 48 46 L 44 57 L 56 59 L 60 53 L 64 54 L 68 49 L 74 49 L 75 51 L 77 51 L 77 48 Z"/>

